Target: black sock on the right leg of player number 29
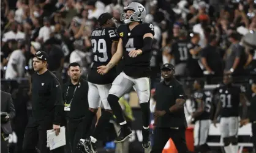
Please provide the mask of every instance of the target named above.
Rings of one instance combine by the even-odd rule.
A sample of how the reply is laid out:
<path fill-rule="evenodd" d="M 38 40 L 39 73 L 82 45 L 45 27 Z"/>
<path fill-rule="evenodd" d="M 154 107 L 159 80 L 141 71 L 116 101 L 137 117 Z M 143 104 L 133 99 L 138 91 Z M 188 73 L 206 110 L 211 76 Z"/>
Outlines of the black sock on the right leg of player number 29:
<path fill-rule="evenodd" d="M 102 112 L 102 115 L 99 118 L 97 126 L 95 127 L 95 130 L 92 133 L 92 137 L 98 140 L 100 134 L 102 133 L 102 131 L 104 131 L 105 126 L 109 123 L 111 116 L 112 116 L 112 113 L 108 111 Z"/>

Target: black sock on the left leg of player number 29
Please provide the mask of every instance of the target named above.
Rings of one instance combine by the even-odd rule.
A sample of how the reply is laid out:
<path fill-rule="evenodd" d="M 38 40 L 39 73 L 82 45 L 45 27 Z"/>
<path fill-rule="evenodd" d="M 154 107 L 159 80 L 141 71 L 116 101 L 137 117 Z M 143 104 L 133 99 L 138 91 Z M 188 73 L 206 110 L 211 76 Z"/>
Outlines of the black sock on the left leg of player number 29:
<path fill-rule="evenodd" d="M 84 139 L 89 137 L 89 134 L 91 132 L 91 124 L 93 121 L 94 116 L 96 113 L 91 112 L 91 110 L 88 110 L 86 112 L 85 119 L 83 119 L 83 126 L 84 126 L 84 131 L 83 131 L 83 137 Z"/>

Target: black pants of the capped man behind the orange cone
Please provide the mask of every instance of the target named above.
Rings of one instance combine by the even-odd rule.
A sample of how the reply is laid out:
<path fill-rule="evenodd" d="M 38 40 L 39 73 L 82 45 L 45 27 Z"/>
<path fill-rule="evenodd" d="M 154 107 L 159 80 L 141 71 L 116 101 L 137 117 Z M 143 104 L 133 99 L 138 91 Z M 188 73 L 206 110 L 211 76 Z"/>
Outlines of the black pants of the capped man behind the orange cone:
<path fill-rule="evenodd" d="M 185 129 L 156 128 L 154 130 L 151 153 L 161 153 L 167 141 L 171 138 L 179 153 L 187 153 Z"/>

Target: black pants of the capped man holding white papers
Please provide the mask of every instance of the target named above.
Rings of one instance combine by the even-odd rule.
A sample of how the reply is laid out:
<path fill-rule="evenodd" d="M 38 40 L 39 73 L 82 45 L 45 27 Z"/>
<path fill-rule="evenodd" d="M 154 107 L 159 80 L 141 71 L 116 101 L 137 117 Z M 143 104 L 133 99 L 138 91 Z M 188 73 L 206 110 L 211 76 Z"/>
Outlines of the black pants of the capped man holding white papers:
<path fill-rule="evenodd" d="M 23 153 L 62 153 L 64 148 L 56 148 L 50 151 L 47 148 L 47 130 L 53 129 L 53 122 L 51 119 L 44 119 L 42 121 L 34 121 L 30 118 L 28 126 L 26 127 L 23 140 Z M 36 148 L 38 147 L 38 149 Z"/>

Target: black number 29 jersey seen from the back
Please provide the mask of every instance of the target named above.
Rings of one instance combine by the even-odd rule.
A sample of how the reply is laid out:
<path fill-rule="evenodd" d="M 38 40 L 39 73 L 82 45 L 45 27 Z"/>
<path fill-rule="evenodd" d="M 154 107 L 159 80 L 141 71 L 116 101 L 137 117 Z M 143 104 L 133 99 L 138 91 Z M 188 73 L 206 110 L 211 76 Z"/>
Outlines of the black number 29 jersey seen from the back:
<path fill-rule="evenodd" d="M 91 34 L 91 44 L 93 52 L 93 63 L 91 71 L 88 74 L 88 81 L 93 84 L 110 84 L 116 77 L 116 69 L 112 68 L 104 76 L 97 73 L 97 67 L 101 65 L 107 65 L 110 62 L 111 46 L 113 41 L 118 41 L 119 36 L 117 34 L 116 28 L 105 27 L 98 28 L 92 31 Z"/>

